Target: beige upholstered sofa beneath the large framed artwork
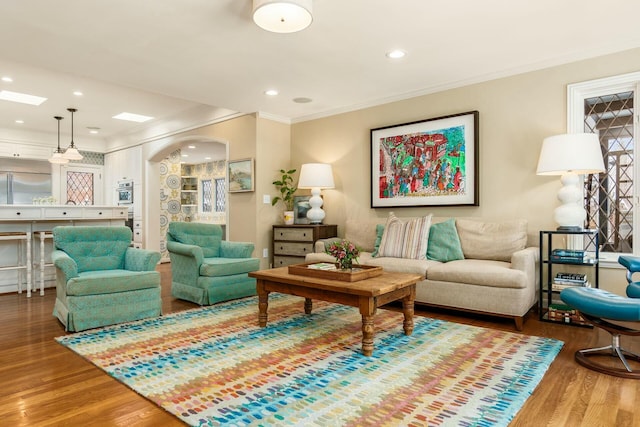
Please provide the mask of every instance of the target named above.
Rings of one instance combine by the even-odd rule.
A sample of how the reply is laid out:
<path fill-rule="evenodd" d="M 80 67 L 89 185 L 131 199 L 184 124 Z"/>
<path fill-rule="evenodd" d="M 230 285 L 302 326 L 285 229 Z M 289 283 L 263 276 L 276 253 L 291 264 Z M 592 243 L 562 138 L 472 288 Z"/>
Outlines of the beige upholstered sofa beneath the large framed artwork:
<path fill-rule="evenodd" d="M 434 225 L 446 220 L 452 224 L 451 228 L 455 221 L 453 233 L 457 232 L 464 259 L 442 262 L 374 256 L 372 253 L 380 243 L 385 225 L 380 219 L 349 220 L 341 237 L 362 250 L 360 264 L 423 275 L 424 280 L 416 287 L 416 303 L 513 318 L 516 329 L 522 330 L 525 315 L 536 304 L 539 283 L 539 252 L 537 247 L 527 246 L 528 240 L 535 241 L 527 236 L 527 222 L 433 217 L 430 245 L 436 244 L 431 237 L 436 240 L 433 230 L 439 226 L 434 228 Z M 455 240 L 455 235 L 446 239 L 447 242 Z M 306 261 L 333 261 L 325 248 L 334 240 L 319 240 L 314 253 L 307 254 Z"/>

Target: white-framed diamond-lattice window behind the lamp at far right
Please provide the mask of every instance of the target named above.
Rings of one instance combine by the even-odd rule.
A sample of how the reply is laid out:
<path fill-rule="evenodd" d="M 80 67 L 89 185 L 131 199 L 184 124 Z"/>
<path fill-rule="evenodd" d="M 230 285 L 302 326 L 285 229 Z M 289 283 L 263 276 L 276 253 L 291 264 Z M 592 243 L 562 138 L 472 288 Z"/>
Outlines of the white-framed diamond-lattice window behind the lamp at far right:
<path fill-rule="evenodd" d="M 585 177 L 587 226 L 599 231 L 602 258 L 615 261 L 620 253 L 640 253 L 638 196 L 635 181 L 637 113 L 634 101 L 640 73 L 569 85 L 567 130 L 595 133 L 600 138 L 605 173 Z M 636 245 L 638 246 L 638 245 Z"/>

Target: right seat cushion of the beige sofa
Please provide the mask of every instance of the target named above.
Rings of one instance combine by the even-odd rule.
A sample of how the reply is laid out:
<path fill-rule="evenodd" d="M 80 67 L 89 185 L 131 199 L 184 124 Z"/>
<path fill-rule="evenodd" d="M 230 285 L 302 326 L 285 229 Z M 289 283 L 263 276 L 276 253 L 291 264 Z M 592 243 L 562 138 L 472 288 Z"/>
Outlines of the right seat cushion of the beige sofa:
<path fill-rule="evenodd" d="M 527 276 L 503 261 L 465 259 L 432 265 L 427 279 L 494 288 L 526 288 Z"/>

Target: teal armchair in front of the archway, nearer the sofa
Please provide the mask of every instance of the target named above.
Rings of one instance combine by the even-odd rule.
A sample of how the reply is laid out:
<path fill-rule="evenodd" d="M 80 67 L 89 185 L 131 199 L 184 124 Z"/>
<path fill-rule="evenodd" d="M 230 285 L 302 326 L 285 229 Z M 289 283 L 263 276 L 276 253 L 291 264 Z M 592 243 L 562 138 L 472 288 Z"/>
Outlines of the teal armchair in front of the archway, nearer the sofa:
<path fill-rule="evenodd" d="M 248 273 L 260 268 L 253 243 L 222 240 L 216 224 L 172 222 L 167 232 L 171 295 L 200 305 L 256 294 Z"/>

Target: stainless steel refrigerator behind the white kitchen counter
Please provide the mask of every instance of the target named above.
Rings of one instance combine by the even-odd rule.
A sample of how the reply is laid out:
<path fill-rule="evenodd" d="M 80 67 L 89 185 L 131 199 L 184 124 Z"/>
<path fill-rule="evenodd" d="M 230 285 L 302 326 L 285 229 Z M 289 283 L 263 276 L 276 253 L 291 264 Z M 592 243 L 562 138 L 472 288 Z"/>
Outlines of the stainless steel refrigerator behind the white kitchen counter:
<path fill-rule="evenodd" d="M 51 164 L 42 160 L 0 158 L 0 204 L 30 205 L 51 196 Z"/>

